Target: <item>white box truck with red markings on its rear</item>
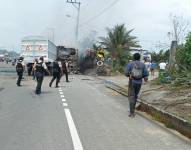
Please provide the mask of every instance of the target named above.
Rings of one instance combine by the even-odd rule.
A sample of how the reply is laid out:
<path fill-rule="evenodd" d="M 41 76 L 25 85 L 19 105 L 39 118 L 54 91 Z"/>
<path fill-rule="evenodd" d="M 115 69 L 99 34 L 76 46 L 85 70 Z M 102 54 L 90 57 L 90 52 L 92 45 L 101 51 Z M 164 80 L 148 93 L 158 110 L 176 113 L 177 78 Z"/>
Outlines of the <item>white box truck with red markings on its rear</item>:
<path fill-rule="evenodd" d="M 44 57 L 44 61 L 49 70 L 51 62 L 57 59 L 56 45 L 43 36 L 27 36 L 21 41 L 21 54 L 27 66 L 28 74 L 31 75 L 34 60 Z"/>

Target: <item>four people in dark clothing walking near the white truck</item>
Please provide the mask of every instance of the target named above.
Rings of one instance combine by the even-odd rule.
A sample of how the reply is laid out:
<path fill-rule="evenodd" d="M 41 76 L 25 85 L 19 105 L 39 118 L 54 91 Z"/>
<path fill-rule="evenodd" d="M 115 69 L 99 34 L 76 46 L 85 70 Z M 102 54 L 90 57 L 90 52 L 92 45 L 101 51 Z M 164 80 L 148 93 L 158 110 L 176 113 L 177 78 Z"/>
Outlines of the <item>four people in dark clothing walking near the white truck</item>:
<path fill-rule="evenodd" d="M 17 75 L 18 75 L 17 86 L 21 86 L 21 80 L 23 78 L 23 73 L 26 69 L 26 66 L 25 66 L 23 60 L 24 60 L 24 58 L 20 57 L 16 64 L 16 71 L 17 71 Z M 39 59 L 35 60 L 34 65 L 32 67 L 32 72 L 33 72 L 33 79 L 36 79 L 36 81 L 37 81 L 36 90 L 35 90 L 36 94 L 41 94 L 41 87 L 42 87 L 45 73 L 48 73 L 49 75 L 51 75 L 51 73 L 52 73 L 52 75 L 53 75 L 53 77 L 49 83 L 49 87 L 52 86 L 55 79 L 56 79 L 55 87 L 58 87 L 60 79 L 61 79 L 62 75 L 64 75 L 64 74 L 66 76 L 66 82 L 69 82 L 67 61 L 58 62 L 55 60 L 52 65 L 52 72 L 50 72 L 48 70 L 48 67 L 46 66 L 46 63 L 44 62 L 44 58 L 40 57 Z"/>

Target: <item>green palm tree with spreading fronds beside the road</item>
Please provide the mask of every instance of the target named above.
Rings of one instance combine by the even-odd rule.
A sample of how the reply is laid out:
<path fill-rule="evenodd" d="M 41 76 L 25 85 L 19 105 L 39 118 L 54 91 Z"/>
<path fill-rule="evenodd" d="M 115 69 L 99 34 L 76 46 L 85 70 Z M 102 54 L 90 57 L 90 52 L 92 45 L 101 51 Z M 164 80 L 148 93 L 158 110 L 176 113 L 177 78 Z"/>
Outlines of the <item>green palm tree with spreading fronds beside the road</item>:
<path fill-rule="evenodd" d="M 140 47 L 135 36 L 131 36 L 133 29 L 127 31 L 125 25 L 116 25 L 114 28 L 107 28 L 107 37 L 101 37 L 101 44 L 110 52 L 113 60 L 113 68 L 123 65 L 124 55 L 128 56 L 131 47 Z"/>

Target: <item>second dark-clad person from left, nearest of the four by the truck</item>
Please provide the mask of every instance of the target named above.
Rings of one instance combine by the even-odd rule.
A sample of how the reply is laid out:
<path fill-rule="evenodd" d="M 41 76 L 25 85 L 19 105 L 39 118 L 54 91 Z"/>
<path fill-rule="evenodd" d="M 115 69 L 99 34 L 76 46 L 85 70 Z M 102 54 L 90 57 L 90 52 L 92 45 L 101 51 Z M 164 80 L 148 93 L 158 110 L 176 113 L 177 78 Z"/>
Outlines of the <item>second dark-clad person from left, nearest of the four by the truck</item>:
<path fill-rule="evenodd" d="M 37 86 L 36 86 L 36 94 L 41 93 L 41 86 L 44 79 L 45 71 L 48 72 L 50 75 L 50 72 L 48 71 L 48 68 L 46 64 L 44 63 L 44 58 L 40 57 L 39 61 L 34 64 L 34 69 L 36 71 L 36 80 L 37 80 Z"/>

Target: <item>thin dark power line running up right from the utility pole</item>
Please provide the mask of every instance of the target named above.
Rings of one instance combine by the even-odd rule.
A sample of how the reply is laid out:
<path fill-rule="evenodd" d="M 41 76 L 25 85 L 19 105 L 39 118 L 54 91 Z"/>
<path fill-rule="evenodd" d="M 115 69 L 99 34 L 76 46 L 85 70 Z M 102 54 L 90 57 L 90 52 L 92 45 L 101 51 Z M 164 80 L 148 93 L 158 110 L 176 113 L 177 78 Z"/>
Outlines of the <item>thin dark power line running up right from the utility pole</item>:
<path fill-rule="evenodd" d="M 89 18 L 87 21 L 83 22 L 80 24 L 80 27 L 83 26 L 84 24 L 87 24 L 91 21 L 94 21 L 95 19 L 97 19 L 98 17 L 100 17 L 101 15 L 103 15 L 106 11 L 108 11 L 112 6 L 114 6 L 118 1 L 120 0 L 114 0 L 109 6 L 107 6 L 106 8 L 104 8 L 102 11 L 100 11 L 97 15 Z"/>

